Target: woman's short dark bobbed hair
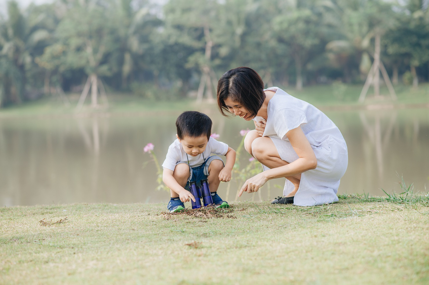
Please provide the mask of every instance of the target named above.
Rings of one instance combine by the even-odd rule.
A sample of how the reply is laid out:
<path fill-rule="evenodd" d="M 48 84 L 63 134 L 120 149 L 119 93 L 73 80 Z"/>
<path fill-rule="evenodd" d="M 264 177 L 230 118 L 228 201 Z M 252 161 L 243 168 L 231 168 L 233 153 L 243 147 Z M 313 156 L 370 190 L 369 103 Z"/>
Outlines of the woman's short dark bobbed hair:
<path fill-rule="evenodd" d="M 251 117 L 256 117 L 265 100 L 262 78 L 249 67 L 237 67 L 225 72 L 218 81 L 218 107 L 224 116 L 230 114 L 224 102 L 227 98 L 239 102 Z"/>

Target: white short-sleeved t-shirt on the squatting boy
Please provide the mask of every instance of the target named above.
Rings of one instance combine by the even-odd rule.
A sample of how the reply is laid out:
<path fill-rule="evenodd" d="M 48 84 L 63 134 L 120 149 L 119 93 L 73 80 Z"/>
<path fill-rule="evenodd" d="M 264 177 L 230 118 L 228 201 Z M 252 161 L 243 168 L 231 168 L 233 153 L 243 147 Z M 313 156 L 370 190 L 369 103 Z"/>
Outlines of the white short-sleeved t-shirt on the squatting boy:
<path fill-rule="evenodd" d="M 197 156 L 191 156 L 184 152 L 182 144 L 178 139 L 176 139 L 168 147 L 167 156 L 162 164 L 162 167 L 174 171 L 174 168 L 178 162 L 188 163 L 188 159 L 189 166 L 196 167 L 202 165 L 204 163 L 204 159 L 207 159 L 211 153 L 224 156 L 227 154 L 227 151 L 227 144 L 221 141 L 216 141 L 214 138 L 210 137 L 205 150 Z"/>

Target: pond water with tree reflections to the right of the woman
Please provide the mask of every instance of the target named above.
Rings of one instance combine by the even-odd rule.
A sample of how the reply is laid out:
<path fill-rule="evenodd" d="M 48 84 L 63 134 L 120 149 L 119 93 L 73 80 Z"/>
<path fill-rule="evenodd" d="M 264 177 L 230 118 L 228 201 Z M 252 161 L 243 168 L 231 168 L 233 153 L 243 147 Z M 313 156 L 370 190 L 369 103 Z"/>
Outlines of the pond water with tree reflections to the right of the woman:
<path fill-rule="evenodd" d="M 414 183 L 416 191 L 426 192 L 428 110 L 359 111 L 359 125 L 351 121 L 356 115 L 353 113 L 346 116 L 347 120 L 337 122 L 349 147 L 349 167 L 339 192 L 400 192 L 402 177 L 406 183 Z"/>

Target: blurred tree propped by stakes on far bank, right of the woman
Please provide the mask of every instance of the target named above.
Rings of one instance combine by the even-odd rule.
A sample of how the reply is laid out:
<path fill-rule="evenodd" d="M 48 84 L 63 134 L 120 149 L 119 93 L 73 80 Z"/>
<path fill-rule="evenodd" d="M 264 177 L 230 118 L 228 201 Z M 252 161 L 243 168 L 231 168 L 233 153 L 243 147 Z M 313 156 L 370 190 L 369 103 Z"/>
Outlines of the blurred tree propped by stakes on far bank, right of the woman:
<path fill-rule="evenodd" d="M 342 39 L 335 39 L 326 45 L 332 60 L 344 66 L 346 77 L 350 76 L 347 66 L 358 58 L 361 74 L 367 74 L 366 83 L 360 94 L 362 101 L 371 83 L 376 97 L 380 96 L 380 70 L 393 98 L 396 97 L 387 72 L 381 63 L 381 36 L 394 24 L 392 5 L 380 0 L 338 0 L 332 1 L 332 15 L 336 16 L 337 29 Z M 374 49 L 371 41 L 375 39 Z M 374 57 L 371 63 L 370 55 Z M 356 61 L 355 61 L 356 63 Z M 350 79 L 347 79 L 350 81 Z"/>

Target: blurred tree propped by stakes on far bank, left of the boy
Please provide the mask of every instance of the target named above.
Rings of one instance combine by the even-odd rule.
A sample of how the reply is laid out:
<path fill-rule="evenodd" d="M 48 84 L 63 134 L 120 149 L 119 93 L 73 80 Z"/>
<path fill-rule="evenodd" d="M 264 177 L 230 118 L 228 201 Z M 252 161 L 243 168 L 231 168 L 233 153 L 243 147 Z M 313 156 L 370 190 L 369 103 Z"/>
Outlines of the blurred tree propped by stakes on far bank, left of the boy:
<path fill-rule="evenodd" d="M 109 76 L 119 66 L 110 64 L 121 44 L 115 0 L 68 0 L 56 37 L 63 69 L 84 69 L 88 79 L 77 108 L 81 108 L 91 88 L 91 106 L 97 107 L 100 76 Z M 63 49 L 62 47 L 66 47 Z"/>

